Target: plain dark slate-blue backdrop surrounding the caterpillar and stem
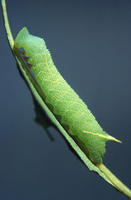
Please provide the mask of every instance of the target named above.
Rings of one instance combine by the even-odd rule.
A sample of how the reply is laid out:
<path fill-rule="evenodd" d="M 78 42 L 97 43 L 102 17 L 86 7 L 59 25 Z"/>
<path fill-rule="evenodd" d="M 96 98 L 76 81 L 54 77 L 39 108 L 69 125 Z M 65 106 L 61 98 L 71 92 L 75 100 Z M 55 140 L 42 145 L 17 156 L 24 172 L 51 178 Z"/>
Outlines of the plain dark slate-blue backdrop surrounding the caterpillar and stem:
<path fill-rule="evenodd" d="M 104 163 L 131 187 L 131 1 L 7 0 L 13 35 L 27 26 L 43 37 L 59 71 L 101 126 Z M 124 200 L 50 128 L 34 123 L 32 97 L 16 69 L 0 16 L 0 199 Z"/>

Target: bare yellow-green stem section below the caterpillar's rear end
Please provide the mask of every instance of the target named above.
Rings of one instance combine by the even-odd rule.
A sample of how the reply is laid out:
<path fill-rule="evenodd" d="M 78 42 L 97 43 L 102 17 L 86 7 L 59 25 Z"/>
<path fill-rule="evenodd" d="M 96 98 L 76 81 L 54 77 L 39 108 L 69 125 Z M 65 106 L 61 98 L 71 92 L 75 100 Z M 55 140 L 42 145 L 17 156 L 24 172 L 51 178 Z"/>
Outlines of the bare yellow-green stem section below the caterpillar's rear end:
<path fill-rule="evenodd" d="M 122 183 L 103 163 L 98 164 L 97 167 L 105 174 L 105 176 L 111 181 L 116 189 L 131 199 L 131 190 L 124 183 Z"/>

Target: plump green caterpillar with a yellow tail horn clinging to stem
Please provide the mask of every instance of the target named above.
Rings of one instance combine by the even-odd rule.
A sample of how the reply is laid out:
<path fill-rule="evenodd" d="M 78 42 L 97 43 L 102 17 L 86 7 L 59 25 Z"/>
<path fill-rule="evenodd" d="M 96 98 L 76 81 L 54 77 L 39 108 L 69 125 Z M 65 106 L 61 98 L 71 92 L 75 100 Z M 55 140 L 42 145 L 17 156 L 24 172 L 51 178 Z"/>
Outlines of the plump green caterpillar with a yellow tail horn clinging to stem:
<path fill-rule="evenodd" d="M 94 164 L 101 163 L 106 142 L 120 141 L 103 131 L 86 104 L 63 79 L 42 38 L 29 34 L 24 27 L 15 39 L 16 54 L 21 48 L 48 108 L 88 158 Z"/>

